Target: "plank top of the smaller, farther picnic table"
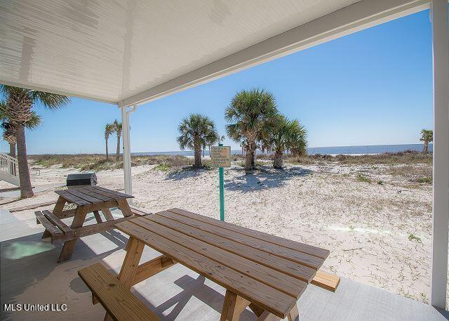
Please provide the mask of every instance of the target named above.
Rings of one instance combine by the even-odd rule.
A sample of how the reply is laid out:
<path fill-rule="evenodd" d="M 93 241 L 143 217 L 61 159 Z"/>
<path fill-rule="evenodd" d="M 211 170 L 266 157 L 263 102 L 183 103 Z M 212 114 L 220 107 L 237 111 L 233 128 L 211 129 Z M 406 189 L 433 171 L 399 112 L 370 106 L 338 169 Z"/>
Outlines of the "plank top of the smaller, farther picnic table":
<path fill-rule="evenodd" d="M 72 186 L 67 190 L 56 190 L 55 193 L 67 200 L 67 202 L 74 203 L 78 206 L 117 201 L 133 197 L 133 195 L 117 192 L 116 190 L 109 190 L 108 188 L 102 188 L 97 185 Z"/>

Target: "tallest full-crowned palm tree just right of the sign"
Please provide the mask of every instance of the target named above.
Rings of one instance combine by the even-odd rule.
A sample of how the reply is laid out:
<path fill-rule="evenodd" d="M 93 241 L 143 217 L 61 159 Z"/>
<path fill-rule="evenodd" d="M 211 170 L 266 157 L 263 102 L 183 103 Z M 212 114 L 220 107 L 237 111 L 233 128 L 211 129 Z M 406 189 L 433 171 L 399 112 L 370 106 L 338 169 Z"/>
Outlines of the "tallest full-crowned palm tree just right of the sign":
<path fill-rule="evenodd" d="M 261 89 L 240 91 L 232 98 L 225 111 L 225 119 L 232 124 L 226 125 L 229 138 L 240 143 L 245 140 L 245 171 L 253 170 L 257 140 L 265 136 L 267 124 L 278 116 L 272 93 Z"/>

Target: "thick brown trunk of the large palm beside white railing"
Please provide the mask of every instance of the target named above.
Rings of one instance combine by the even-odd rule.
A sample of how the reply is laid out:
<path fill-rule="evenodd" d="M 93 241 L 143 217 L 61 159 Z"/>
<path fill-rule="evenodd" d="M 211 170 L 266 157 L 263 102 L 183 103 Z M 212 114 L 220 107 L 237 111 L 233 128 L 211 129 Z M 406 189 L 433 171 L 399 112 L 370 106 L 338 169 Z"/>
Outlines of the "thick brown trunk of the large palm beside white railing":
<path fill-rule="evenodd" d="M 25 142 L 25 126 L 17 125 L 17 155 L 19 163 L 20 197 L 27 198 L 34 196 L 29 178 L 27 144 Z"/>

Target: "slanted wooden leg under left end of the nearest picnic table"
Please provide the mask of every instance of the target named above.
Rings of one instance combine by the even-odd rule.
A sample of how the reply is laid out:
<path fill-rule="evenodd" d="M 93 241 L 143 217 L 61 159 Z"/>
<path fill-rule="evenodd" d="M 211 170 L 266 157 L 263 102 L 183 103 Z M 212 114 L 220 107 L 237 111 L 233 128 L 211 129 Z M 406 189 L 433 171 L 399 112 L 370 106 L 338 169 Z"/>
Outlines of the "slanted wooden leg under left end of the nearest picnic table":
<path fill-rule="evenodd" d="M 145 244 L 140 242 L 135 237 L 130 237 L 128 240 L 128 251 L 126 252 L 125 259 L 121 266 L 119 273 L 119 281 L 126 289 L 131 289 L 134 284 L 135 274 L 138 271 L 139 261 L 142 257 L 143 248 Z M 112 321 L 112 317 L 106 313 L 105 321 Z"/>

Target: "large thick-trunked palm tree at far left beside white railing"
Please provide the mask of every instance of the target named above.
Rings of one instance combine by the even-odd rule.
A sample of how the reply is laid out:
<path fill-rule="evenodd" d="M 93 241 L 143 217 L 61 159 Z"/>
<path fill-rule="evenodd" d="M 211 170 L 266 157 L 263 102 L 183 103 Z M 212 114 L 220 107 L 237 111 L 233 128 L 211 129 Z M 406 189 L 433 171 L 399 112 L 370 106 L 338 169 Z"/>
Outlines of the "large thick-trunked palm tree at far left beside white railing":
<path fill-rule="evenodd" d="M 34 194 L 29 178 L 27 144 L 25 141 L 25 126 L 27 122 L 32 120 L 32 107 L 41 104 L 43 107 L 55 110 L 67 105 L 70 98 L 54 93 L 6 85 L 0 85 L 0 91 L 6 100 L 6 116 L 16 129 L 20 197 L 32 197 Z"/>

